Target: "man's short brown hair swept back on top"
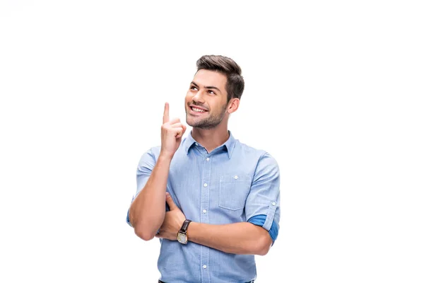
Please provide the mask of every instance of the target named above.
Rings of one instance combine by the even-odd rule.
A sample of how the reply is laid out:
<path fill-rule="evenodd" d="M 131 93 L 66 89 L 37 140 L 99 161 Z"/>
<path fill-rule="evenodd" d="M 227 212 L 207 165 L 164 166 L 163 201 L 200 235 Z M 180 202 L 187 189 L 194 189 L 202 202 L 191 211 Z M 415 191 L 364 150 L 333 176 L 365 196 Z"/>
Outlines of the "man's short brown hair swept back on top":
<path fill-rule="evenodd" d="M 227 76 L 225 90 L 228 93 L 227 101 L 231 98 L 241 98 L 245 90 L 245 80 L 242 77 L 242 69 L 233 59 L 220 55 L 204 55 L 196 62 L 197 71 L 206 69 L 219 71 Z"/>

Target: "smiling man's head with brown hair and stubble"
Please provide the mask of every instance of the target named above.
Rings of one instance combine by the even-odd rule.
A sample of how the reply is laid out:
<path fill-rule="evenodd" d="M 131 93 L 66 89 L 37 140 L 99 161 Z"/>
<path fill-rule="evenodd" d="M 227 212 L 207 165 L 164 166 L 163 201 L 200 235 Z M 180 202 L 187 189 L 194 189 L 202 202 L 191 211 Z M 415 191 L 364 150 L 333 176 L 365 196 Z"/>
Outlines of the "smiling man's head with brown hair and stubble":
<path fill-rule="evenodd" d="M 242 69 L 232 59 L 202 56 L 185 99 L 187 124 L 201 129 L 216 127 L 237 110 L 244 89 Z"/>

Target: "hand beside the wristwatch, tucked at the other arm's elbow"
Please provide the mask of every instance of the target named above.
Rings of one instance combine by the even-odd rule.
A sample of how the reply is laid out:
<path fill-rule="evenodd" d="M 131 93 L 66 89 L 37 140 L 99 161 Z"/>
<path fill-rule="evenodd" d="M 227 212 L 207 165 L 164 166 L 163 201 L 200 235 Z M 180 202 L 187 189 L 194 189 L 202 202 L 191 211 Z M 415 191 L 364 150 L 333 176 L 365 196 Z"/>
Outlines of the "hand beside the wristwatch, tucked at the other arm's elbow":
<path fill-rule="evenodd" d="M 160 233 L 157 233 L 155 237 L 177 241 L 177 233 L 186 218 L 168 192 L 166 193 L 166 202 L 170 206 L 170 211 L 165 213 L 165 219 L 160 226 Z"/>

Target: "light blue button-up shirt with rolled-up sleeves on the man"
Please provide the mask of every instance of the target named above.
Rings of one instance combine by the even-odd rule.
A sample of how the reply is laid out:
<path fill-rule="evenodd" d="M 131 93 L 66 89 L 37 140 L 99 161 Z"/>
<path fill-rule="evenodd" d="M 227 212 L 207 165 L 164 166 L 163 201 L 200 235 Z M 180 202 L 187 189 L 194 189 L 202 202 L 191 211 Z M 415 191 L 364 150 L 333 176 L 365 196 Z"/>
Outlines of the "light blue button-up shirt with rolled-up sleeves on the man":
<path fill-rule="evenodd" d="M 184 138 L 170 164 L 167 192 L 187 219 L 206 224 L 249 221 L 269 231 L 275 241 L 280 220 L 278 164 L 266 151 L 242 144 L 229 133 L 225 144 L 210 153 L 191 133 Z M 146 185 L 159 153 L 156 146 L 141 156 L 136 195 Z M 128 214 L 126 221 L 130 224 Z M 160 243 L 158 270 L 163 282 L 256 279 L 254 255 L 224 253 L 190 241 L 182 245 L 160 239 Z"/>

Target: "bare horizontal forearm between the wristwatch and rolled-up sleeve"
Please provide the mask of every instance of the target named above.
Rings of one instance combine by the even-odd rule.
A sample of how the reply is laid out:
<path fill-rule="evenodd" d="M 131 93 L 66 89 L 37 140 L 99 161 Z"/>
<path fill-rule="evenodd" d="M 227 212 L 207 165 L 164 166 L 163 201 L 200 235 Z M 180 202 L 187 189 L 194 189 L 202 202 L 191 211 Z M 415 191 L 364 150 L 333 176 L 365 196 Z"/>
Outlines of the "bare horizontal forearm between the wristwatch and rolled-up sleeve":
<path fill-rule="evenodd" d="M 224 225 L 192 222 L 187 235 L 194 243 L 238 255 L 266 255 L 272 243 L 268 231 L 249 222 Z"/>

